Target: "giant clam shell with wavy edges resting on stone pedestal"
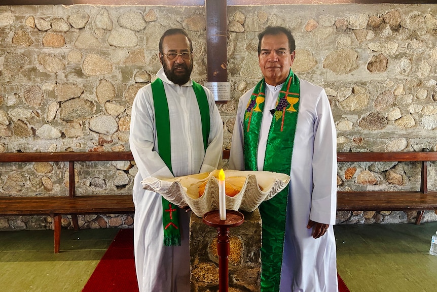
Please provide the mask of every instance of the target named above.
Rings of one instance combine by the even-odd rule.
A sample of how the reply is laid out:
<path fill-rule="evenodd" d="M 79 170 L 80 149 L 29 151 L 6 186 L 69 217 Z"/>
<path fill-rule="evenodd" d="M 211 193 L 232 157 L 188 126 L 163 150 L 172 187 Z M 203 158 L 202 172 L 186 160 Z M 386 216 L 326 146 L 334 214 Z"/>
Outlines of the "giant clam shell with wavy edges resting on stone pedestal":
<path fill-rule="evenodd" d="M 218 170 L 180 176 L 171 179 L 146 178 L 141 183 L 144 189 L 156 191 L 169 202 L 178 206 L 189 206 L 199 217 L 206 212 L 217 210 L 218 204 Z M 252 212 L 263 202 L 284 189 L 290 177 L 286 174 L 268 171 L 225 170 L 226 179 L 245 177 L 241 190 L 234 197 L 226 196 L 226 209 Z M 207 181 L 205 191 L 199 197 L 199 185 Z M 261 188 L 260 188 L 261 187 Z M 199 198 L 198 198 L 199 197 Z"/>

